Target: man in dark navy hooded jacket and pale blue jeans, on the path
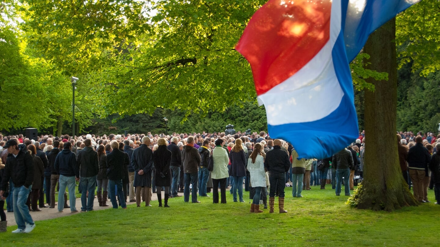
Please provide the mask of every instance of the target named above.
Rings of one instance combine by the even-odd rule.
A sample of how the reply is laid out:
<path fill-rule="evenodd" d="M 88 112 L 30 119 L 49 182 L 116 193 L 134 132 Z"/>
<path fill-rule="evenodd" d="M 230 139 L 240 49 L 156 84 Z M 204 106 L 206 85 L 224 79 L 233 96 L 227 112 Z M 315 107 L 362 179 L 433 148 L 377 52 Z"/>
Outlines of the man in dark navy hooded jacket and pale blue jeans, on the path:
<path fill-rule="evenodd" d="M 75 197 L 75 180 L 80 181 L 80 171 L 77 166 L 77 155 L 72 152 L 72 143 L 64 143 L 64 149 L 55 158 L 55 171 L 59 173 L 58 211 L 62 212 L 65 198 L 61 192 L 69 189 L 70 211 L 77 212 Z"/>

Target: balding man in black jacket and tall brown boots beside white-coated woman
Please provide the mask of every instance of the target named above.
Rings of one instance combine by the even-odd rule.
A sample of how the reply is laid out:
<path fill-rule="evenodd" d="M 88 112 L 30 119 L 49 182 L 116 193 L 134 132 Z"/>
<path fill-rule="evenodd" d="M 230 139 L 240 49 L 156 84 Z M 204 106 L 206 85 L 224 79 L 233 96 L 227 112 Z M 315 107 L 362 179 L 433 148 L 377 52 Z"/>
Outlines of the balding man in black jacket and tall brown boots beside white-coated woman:
<path fill-rule="evenodd" d="M 266 154 L 264 168 L 270 172 L 269 183 L 269 213 L 274 212 L 275 191 L 278 190 L 279 212 L 287 213 L 284 210 L 284 188 L 286 187 L 286 172 L 290 169 L 289 154 L 281 149 L 282 142 L 279 139 L 274 140 L 274 148 Z"/>

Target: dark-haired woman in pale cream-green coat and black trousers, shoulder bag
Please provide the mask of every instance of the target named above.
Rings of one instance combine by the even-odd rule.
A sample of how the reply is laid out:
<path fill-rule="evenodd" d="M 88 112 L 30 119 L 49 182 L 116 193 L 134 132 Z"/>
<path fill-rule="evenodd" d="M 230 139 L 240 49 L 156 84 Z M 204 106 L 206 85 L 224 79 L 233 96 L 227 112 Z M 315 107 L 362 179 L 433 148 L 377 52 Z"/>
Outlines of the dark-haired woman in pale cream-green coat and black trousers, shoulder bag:
<path fill-rule="evenodd" d="M 226 203 L 226 179 L 229 177 L 227 164 L 229 163 L 229 156 L 227 151 L 223 148 L 223 140 L 217 139 L 215 141 L 216 147 L 213 149 L 213 171 L 211 178 L 213 179 L 213 203 L 219 203 L 220 184 L 221 203 Z"/>

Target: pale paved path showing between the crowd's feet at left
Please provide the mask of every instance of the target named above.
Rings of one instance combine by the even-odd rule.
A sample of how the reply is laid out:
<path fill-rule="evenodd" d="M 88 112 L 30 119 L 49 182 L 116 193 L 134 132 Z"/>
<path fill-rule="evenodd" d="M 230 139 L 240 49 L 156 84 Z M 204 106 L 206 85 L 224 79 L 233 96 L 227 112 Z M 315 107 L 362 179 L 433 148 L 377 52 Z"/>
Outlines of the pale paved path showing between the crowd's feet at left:
<path fill-rule="evenodd" d="M 180 196 L 183 196 L 183 193 L 179 193 Z M 55 195 L 58 197 L 58 193 Z M 164 197 L 164 192 L 162 192 L 162 201 Z M 151 200 L 158 200 L 158 196 L 156 193 L 153 193 L 153 195 L 151 196 Z M 183 198 L 182 198 L 183 200 Z M 128 198 L 127 198 L 128 201 Z M 57 202 L 58 204 L 58 202 Z M 67 204 L 70 204 L 69 200 L 67 200 Z M 103 209 L 109 209 L 112 208 L 111 206 L 111 202 L 110 200 L 107 200 L 107 204 L 110 205 L 108 207 L 99 207 L 99 203 L 98 203 L 98 199 L 95 198 L 94 201 L 94 206 L 93 206 L 93 210 L 103 210 Z M 127 202 L 127 205 L 131 205 L 131 204 L 136 204 L 136 202 Z M 143 202 L 143 204 L 141 204 L 143 206 L 145 206 L 145 202 Z M 157 206 L 157 204 L 155 204 Z M 77 198 L 76 199 L 76 208 L 78 211 L 81 211 L 81 198 Z M 59 217 L 63 217 L 63 216 L 69 216 L 69 215 L 73 215 L 73 214 L 80 214 L 80 212 L 78 213 L 71 213 L 70 212 L 70 208 L 65 208 L 61 213 L 58 211 L 58 206 L 55 206 L 55 208 L 40 208 L 41 211 L 39 212 L 30 212 L 30 215 L 32 216 L 32 219 L 37 222 L 40 220 L 45 220 L 45 219 L 51 219 L 51 218 L 59 218 Z M 14 217 L 14 213 L 6 213 L 6 219 L 7 219 L 7 226 L 16 226 L 17 223 L 15 222 L 15 217 Z"/>

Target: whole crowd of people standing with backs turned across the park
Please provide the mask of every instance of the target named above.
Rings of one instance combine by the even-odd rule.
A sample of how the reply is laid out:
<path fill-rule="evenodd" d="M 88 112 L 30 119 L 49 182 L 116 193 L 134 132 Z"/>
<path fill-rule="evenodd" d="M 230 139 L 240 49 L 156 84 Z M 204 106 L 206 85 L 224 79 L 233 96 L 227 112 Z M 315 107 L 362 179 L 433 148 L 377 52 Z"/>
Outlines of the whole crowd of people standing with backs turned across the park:
<path fill-rule="evenodd" d="M 213 203 L 220 200 L 224 204 L 226 189 L 234 202 L 245 202 L 244 189 L 252 200 L 250 212 L 263 212 L 260 205 L 268 208 L 269 195 L 269 212 L 274 212 L 278 197 L 279 213 L 286 213 L 284 190 L 289 181 L 292 196 L 301 198 L 303 190 L 318 185 L 325 189 L 326 184 L 340 196 L 342 183 L 345 196 L 349 196 L 355 176 L 362 179 L 364 131 L 349 147 L 324 159 L 299 159 L 290 143 L 272 140 L 265 132 L 249 131 L 235 132 L 229 126 L 227 134 L 43 135 L 38 140 L 0 135 L 0 231 L 6 231 L 4 200 L 18 225 L 12 233 L 32 231 L 35 223 L 29 211 L 55 208 L 57 189 L 58 211 L 69 208 L 78 212 L 77 182 L 81 212 L 93 210 L 95 192 L 99 207 L 109 206 L 110 198 L 113 208 L 125 209 L 127 201 L 151 207 L 152 193 L 164 208 L 170 207 L 169 198 L 182 197 L 179 193 L 185 202 L 191 195 L 191 203 L 200 203 L 198 197 L 209 197 L 212 191 Z M 440 156 L 436 154 L 440 135 L 400 132 L 397 137 L 403 178 L 410 189 L 412 184 L 418 201 L 429 202 L 427 188 L 440 186 Z M 439 200 L 439 190 L 435 194 Z"/>

